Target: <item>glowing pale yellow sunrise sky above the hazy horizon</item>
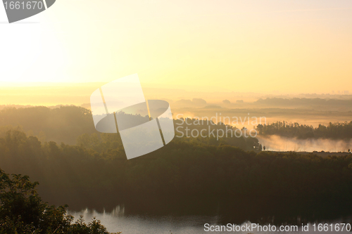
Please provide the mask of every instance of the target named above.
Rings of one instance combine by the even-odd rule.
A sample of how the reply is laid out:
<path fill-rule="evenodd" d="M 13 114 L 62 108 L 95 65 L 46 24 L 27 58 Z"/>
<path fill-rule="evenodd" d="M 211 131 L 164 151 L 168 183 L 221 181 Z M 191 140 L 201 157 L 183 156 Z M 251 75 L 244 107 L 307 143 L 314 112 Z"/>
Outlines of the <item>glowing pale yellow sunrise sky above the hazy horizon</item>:
<path fill-rule="evenodd" d="M 165 89 L 352 92 L 350 0 L 57 0 L 6 21 L 0 6 L 3 89 L 137 73 Z"/>

